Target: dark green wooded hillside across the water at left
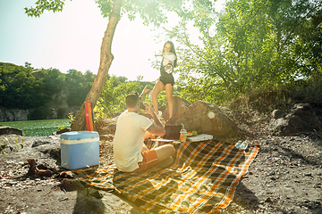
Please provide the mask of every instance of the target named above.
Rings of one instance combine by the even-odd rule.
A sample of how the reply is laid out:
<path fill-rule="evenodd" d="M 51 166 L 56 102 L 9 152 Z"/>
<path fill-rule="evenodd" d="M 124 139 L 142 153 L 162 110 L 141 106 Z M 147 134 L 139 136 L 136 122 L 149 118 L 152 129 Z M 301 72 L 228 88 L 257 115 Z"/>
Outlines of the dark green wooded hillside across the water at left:
<path fill-rule="evenodd" d="M 30 109 L 29 119 L 53 118 L 52 107 L 67 101 L 69 106 L 81 106 L 96 75 L 87 70 L 35 70 L 26 62 L 25 67 L 0 62 L 0 105 L 7 109 Z M 64 118 L 63 108 L 57 112 Z"/>

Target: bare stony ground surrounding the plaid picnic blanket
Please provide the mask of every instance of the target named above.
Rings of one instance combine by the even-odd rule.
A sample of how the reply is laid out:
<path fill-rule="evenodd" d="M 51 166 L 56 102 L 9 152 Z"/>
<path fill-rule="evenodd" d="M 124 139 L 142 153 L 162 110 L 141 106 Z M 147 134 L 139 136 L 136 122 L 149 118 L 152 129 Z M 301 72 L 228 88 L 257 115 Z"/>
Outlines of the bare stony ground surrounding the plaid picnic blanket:
<path fill-rule="evenodd" d="M 235 119 L 250 146 L 259 144 L 260 150 L 233 202 L 220 213 L 322 213 L 322 136 L 272 135 L 268 120 L 254 117 Z M 4 140 L 13 146 L 23 141 L 24 147 L 0 154 L 0 213 L 148 213 L 114 193 L 64 182 L 68 179 L 28 177 L 25 159 L 58 168 L 57 136 L 0 136 Z M 100 142 L 100 164 L 112 162 L 111 142 Z"/>

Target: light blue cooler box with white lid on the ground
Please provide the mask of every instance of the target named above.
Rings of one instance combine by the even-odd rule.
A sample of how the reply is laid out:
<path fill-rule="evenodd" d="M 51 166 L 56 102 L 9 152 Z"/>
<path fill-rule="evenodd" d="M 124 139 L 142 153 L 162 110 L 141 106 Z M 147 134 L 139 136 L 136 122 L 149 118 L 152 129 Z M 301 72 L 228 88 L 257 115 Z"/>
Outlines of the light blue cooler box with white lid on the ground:
<path fill-rule="evenodd" d="M 65 169 L 99 164 L 99 136 L 95 131 L 65 132 L 60 136 L 61 162 Z"/>

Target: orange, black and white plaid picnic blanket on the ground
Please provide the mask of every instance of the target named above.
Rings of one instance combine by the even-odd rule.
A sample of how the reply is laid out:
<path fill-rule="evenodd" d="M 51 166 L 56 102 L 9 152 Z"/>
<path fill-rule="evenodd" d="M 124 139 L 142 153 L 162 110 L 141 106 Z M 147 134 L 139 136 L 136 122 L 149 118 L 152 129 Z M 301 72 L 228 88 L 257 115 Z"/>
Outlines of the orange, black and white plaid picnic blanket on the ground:
<path fill-rule="evenodd" d="M 149 140 L 148 148 L 155 142 Z M 165 144 L 158 142 L 158 144 Z M 222 142 L 174 144 L 176 158 L 170 167 L 141 173 L 80 169 L 80 182 L 100 190 L 114 190 L 143 210 L 155 213 L 215 213 L 233 200 L 241 177 L 247 173 L 259 146 L 239 150 Z"/>

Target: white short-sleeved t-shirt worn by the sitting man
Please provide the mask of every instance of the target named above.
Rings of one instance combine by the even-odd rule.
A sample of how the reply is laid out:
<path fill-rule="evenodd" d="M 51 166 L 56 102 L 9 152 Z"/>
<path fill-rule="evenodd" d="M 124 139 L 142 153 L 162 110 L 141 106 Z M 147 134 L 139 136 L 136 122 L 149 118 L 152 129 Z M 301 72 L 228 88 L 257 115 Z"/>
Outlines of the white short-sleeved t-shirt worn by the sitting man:
<path fill-rule="evenodd" d="M 139 168 L 144 135 L 153 122 L 136 113 L 124 111 L 117 120 L 114 136 L 114 161 L 117 169 L 131 172 Z"/>

